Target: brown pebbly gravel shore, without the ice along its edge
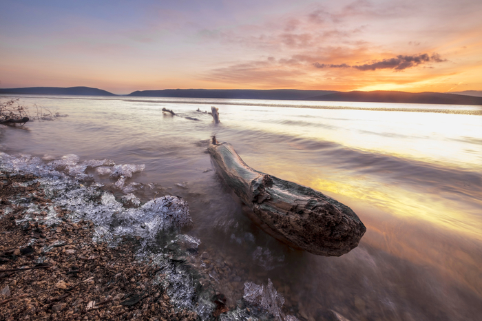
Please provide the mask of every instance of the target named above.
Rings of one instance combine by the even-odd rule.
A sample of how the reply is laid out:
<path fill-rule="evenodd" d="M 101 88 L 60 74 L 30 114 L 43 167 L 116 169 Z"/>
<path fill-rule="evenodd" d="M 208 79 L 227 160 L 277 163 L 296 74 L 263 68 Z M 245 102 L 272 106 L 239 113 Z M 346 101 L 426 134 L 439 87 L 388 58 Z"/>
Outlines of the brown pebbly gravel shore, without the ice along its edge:
<path fill-rule="evenodd" d="M 136 260 L 132 239 L 117 247 L 92 242 L 94 223 L 66 218 L 45 225 L 45 211 L 31 212 L 18 200 L 31 198 L 39 209 L 52 205 L 35 176 L 0 176 L 0 320 L 196 320 L 196 312 L 174 309 L 152 282 L 158 266 Z"/>

